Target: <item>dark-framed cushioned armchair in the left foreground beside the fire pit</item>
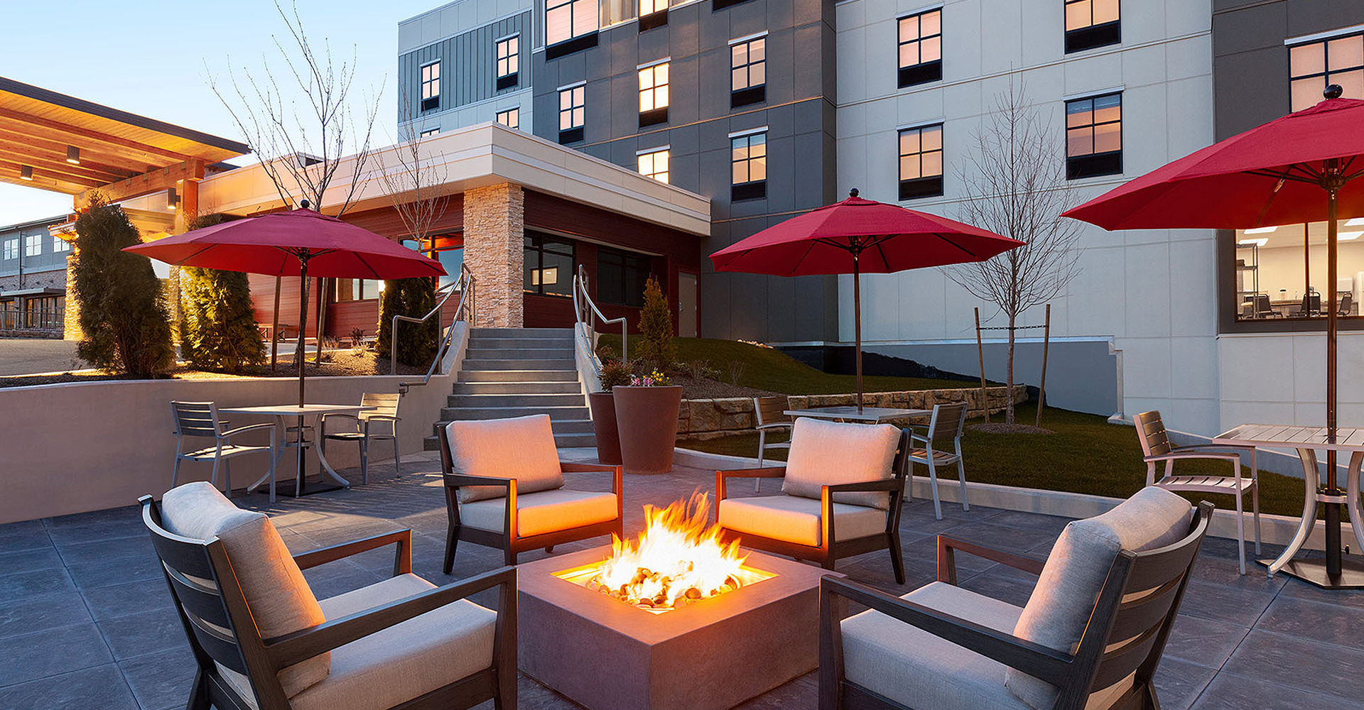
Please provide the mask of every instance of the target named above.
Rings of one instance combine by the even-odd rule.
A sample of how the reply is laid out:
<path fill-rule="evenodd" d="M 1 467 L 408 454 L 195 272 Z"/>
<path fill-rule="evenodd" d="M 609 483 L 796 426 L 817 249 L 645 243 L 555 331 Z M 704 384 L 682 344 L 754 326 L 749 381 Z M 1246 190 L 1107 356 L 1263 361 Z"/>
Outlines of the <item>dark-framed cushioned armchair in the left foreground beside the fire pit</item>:
<path fill-rule="evenodd" d="M 270 519 L 216 488 L 142 496 L 196 672 L 188 710 L 516 707 L 516 570 L 436 587 L 412 531 L 289 555 Z M 301 570 L 397 545 L 393 576 L 316 600 Z M 498 611 L 466 597 L 498 589 Z"/>

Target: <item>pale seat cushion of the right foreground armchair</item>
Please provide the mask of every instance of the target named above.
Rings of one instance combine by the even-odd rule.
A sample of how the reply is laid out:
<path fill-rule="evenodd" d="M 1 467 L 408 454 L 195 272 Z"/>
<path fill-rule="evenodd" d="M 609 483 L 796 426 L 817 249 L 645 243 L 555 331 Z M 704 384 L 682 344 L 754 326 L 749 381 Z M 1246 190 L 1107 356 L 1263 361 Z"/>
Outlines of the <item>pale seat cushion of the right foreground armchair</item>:
<path fill-rule="evenodd" d="M 944 582 L 900 598 L 1004 632 L 1023 612 Z M 917 710 L 1031 710 L 1004 688 L 1004 664 L 874 611 L 842 627 L 844 675 L 869 691 Z M 1090 695 L 1086 709 L 1109 707 L 1131 685 L 1125 679 Z"/>

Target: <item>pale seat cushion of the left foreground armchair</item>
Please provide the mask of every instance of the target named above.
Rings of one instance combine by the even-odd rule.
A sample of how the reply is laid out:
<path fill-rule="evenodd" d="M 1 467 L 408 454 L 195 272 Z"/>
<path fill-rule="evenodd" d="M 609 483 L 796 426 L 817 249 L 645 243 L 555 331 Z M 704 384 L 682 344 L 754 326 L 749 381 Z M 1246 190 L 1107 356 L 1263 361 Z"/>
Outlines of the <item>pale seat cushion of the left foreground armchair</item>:
<path fill-rule="evenodd" d="M 327 619 L 420 594 L 435 585 L 400 575 L 322 600 Z M 326 680 L 289 699 L 293 710 L 383 710 L 492 665 L 496 613 L 468 600 L 441 606 L 331 651 Z M 224 675 L 248 700 L 246 676 Z M 255 707 L 255 703 L 251 703 Z"/>

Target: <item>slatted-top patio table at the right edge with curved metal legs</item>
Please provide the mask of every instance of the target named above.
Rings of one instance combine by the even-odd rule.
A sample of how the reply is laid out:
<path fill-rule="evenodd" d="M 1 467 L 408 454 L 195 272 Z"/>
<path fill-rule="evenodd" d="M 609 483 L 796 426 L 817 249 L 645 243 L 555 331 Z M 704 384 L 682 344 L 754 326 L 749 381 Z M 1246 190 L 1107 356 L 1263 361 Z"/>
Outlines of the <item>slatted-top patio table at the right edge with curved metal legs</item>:
<path fill-rule="evenodd" d="M 1360 514 L 1360 465 L 1364 463 L 1364 428 L 1341 427 L 1335 440 L 1330 440 L 1326 427 L 1285 427 L 1278 424 L 1243 424 L 1213 439 L 1214 444 L 1252 444 L 1264 448 L 1293 448 L 1303 462 L 1303 521 L 1292 542 L 1274 560 L 1260 560 L 1269 574 L 1284 570 L 1318 586 L 1364 586 L 1364 568 L 1345 564 L 1341 559 L 1341 527 L 1330 525 L 1331 510 L 1344 504 L 1349 511 L 1350 527 L 1359 551 L 1364 552 L 1364 516 Z M 1316 466 L 1318 451 L 1348 451 L 1350 462 L 1345 467 L 1345 491 L 1335 485 L 1335 472 L 1327 472 L 1327 485 L 1320 485 Z M 1316 526 L 1316 506 L 1327 504 L 1326 560 L 1294 560 Z M 1335 515 L 1338 518 L 1338 515 Z"/>

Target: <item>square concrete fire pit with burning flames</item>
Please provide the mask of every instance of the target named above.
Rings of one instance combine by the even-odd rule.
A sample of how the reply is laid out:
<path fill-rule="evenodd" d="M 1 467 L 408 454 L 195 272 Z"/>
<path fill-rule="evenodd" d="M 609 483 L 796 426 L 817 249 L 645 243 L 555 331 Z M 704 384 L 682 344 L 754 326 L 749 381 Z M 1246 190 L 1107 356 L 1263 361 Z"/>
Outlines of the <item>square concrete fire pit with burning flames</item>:
<path fill-rule="evenodd" d="M 521 564 L 521 670 L 591 710 L 722 710 L 813 670 L 836 572 L 722 544 L 705 510 L 647 508 L 633 541 Z"/>

